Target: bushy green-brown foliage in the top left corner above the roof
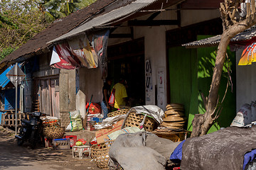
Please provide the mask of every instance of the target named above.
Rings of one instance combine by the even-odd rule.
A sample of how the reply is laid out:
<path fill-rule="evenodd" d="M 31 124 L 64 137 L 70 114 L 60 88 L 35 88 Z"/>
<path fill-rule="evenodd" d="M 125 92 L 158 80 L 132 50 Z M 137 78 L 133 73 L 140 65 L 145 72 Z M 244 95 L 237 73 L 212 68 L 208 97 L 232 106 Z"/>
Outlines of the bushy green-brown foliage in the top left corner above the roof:
<path fill-rule="evenodd" d="M 23 45 L 48 26 L 37 5 L 36 0 L 0 1 L 0 52 L 2 54 Z"/>

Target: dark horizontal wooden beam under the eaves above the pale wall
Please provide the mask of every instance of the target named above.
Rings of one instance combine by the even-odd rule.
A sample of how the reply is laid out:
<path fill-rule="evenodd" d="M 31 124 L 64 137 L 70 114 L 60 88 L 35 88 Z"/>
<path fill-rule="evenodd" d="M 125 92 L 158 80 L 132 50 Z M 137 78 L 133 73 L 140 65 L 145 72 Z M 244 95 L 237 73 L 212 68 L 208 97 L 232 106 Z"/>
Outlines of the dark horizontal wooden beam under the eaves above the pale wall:
<path fill-rule="evenodd" d="M 174 26 L 174 25 L 178 25 L 178 20 L 128 21 L 128 26 Z"/>

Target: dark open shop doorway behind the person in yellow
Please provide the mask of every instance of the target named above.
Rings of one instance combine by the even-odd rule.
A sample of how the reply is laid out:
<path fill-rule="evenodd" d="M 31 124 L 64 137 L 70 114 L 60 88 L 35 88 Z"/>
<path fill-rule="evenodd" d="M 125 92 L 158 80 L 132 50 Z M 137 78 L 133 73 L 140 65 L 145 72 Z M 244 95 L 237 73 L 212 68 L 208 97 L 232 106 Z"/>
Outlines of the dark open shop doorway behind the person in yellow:
<path fill-rule="evenodd" d="M 108 48 L 108 76 L 117 83 L 127 80 L 130 106 L 145 105 L 144 39 L 124 42 Z"/>

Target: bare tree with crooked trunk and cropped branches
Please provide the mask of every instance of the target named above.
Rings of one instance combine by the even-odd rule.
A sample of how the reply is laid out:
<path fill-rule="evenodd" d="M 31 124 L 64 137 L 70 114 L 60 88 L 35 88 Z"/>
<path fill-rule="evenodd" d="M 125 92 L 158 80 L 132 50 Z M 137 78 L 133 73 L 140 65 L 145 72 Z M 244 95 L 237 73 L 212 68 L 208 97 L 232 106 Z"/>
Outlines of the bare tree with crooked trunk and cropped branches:
<path fill-rule="evenodd" d="M 251 3 L 246 3 L 246 16 L 240 16 L 240 3 L 243 2 L 242 0 L 225 0 L 224 3 L 220 3 L 223 34 L 218 45 L 209 95 L 206 98 L 202 95 L 206 113 L 195 115 L 192 121 L 193 132 L 191 137 L 206 135 L 220 115 L 221 107 L 218 106 L 218 90 L 220 88 L 220 78 L 225 62 L 226 50 L 231 38 L 256 24 L 255 0 L 251 0 Z"/>

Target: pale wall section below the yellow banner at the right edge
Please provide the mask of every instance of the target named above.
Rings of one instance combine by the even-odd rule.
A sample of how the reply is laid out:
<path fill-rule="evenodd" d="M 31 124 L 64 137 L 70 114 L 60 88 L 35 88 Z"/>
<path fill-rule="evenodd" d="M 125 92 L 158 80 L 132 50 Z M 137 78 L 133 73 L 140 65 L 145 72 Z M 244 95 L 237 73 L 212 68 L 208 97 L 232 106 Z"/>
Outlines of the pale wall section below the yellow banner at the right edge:
<path fill-rule="evenodd" d="M 256 100 L 256 63 L 239 66 L 238 62 L 242 50 L 236 52 L 236 109 L 237 111 L 244 103 L 251 103 Z"/>

